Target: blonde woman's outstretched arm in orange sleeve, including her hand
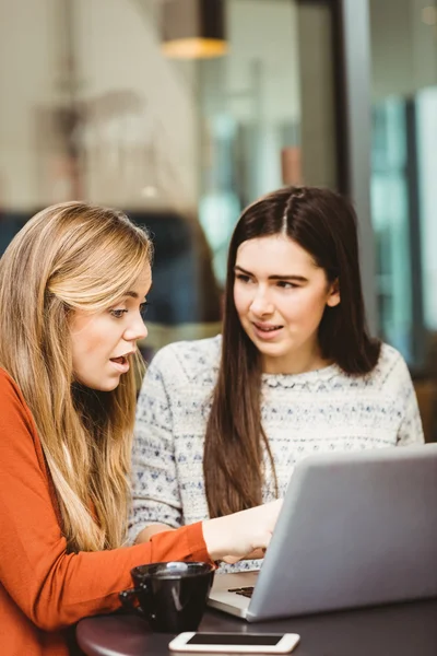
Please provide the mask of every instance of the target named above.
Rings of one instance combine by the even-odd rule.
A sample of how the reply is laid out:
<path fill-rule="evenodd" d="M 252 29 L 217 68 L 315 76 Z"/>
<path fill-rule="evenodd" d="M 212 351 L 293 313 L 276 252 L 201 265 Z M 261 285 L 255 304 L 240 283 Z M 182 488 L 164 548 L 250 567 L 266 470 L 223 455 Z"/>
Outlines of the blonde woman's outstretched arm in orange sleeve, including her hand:
<path fill-rule="evenodd" d="M 4 377 L 0 398 L 0 582 L 38 628 L 55 631 L 115 610 L 137 565 L 243 557 L 269 542 L 279 513 L 274 504 L 246 511 L 247 517 L 240 513 L 162 532 L 144 544 L 67 553 L 31 413 Z"/>

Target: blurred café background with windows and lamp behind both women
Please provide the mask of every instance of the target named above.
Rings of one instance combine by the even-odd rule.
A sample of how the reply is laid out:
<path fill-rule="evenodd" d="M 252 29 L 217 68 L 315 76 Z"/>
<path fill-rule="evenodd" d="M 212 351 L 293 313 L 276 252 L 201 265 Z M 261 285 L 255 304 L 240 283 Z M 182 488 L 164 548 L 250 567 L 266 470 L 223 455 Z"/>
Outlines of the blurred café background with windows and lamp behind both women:
<path fill-rule="evenodd" d="M 63 200 L 146 225 L 147 360 L 220 331 L 239 212 L 285 184 L 353 198 L 371 330 L 436 440 L 436 3 L 0 0 L 0 253 Z"/>

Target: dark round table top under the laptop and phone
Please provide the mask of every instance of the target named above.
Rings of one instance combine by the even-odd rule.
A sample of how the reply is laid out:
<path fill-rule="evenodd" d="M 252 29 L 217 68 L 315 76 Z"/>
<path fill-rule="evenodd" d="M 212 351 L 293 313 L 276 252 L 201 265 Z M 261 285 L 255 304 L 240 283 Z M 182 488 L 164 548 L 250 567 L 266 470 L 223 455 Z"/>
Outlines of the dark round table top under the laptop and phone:
<path fill-rule="evenodd" d="M 206 610 L 199 630 L 299 633 L 293 656 L 437 656 L 437 599 L 256 624 Z M 133 614 L 82 620 L 76 635 L 88 656 L 167 656 L 173 637 Z"/>

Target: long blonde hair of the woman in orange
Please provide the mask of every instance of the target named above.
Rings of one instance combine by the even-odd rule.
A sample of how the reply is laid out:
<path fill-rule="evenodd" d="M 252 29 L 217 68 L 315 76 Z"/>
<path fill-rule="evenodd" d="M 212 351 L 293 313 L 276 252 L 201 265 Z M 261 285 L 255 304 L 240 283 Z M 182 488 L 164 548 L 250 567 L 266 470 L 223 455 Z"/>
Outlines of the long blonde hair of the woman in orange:
<path fill-rule="evenodd" d="M 125 541 L 135 367 L 114 391 L 80 389 L 69 315 L 110 307 L 151 257 L 149 236 L 121 212 L 67 202 L 31 219 L 0 260 L 0 366 L 34 417 L 70 551 Z"/>

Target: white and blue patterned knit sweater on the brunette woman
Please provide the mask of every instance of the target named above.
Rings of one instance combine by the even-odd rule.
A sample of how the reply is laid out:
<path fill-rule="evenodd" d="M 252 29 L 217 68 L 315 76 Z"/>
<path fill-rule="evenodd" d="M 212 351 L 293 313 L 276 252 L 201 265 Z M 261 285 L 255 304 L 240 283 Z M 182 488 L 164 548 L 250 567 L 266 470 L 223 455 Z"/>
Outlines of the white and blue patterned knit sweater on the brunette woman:
<path fill-rule="evenodd" d="M 177 342 L 158 351 L 147 370 L 133 447 L 132 541 L 153 523 L 178 527 L 209 516 L 202 458 L 220 353 L 221 336 Z M 261 395 L 281 496 L 295 464 L 310 454 L 424 441 L 406 364 L 387 344 L 365 376 L 347 375 L 335 364 L 296 375 L 263 374 Z M 263 500 L 273 497 L 265 458 Z"/>

